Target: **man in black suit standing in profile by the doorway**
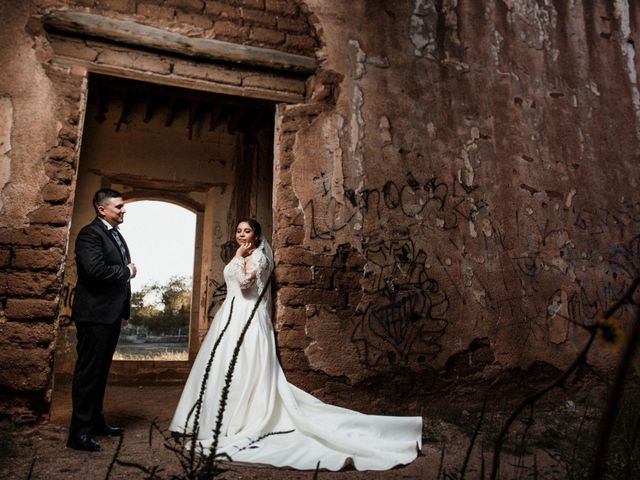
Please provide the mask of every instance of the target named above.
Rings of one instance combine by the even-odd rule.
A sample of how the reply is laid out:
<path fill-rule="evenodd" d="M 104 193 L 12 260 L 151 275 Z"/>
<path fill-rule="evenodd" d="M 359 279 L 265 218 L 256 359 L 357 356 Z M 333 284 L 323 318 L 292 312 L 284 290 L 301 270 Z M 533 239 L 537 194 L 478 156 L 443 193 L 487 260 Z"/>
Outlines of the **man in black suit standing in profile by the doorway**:
<path fill-rule="evenodd" d="M 93 436 L 121 435 L 122 428 L 107 424 L 102 413 L 111 358 L 118 343 L 120 323 L 129 318 L 131 286 L 137 269 L 118 225 L 124 221 L 122 194 L 108 188 L 93 196 L 96 218 L 76 239 L 78 281 L 71 319 L 76 324 L 78 359 L 73 373 L 73 412 L 67 446 L 95 452 Z"/>

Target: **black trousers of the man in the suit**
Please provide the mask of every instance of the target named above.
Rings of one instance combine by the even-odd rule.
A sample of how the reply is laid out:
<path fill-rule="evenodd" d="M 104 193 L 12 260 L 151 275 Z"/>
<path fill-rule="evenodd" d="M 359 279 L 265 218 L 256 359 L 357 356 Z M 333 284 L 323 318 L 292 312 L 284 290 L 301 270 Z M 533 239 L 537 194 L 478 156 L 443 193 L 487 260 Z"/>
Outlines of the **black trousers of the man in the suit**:
<path fill-rule="evenodd" d="M 121 320 L 112 324 L 76 323 L 78 359 L 73 372 L 69 435 L 90 434 L 93 428 L 104 425 L 104 391 L 121 323 Z"/>

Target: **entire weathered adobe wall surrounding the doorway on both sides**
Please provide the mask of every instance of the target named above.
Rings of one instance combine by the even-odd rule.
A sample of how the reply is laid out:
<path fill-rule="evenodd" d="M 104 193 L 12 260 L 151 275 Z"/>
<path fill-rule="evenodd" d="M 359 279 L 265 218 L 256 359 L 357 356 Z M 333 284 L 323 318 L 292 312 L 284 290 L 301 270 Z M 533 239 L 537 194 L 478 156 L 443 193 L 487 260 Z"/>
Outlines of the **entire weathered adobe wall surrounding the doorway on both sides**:
<path fill-rule="evenodd" d="M 305 90 L 100 42 L 66 52 L 306 95 L 276 116 L 276 327 L 289 379 L 325 400 L 411 413 L 430 395 L 455 405 L 543 381 L 580 348 L 574 322 L 640 272 L 636 3 L 7 3 L 0 361 L 17 368 L 0 372 L 4 414 L 47 409 L 89 68 L 50 61 L 47 8 L 320 60 Z"/>

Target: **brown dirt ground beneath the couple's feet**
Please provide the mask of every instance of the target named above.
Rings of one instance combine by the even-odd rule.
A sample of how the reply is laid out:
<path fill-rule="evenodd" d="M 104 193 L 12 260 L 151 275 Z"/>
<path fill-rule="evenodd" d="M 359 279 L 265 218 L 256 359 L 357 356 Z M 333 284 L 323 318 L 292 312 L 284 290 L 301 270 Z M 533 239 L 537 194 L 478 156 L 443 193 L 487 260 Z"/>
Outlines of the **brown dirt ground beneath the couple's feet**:
<path fill-rule="evenodd" d="M 140 465 L 158 466 L 162 470 L 155 478 L 168 479 L 181 473 L 174 454 L 166 449 L 163 438 L 154 433 L 149 442 L 150 426 L 156 422 L 161 428 L 169 424 L 173 409 L 181 392 L 180 385 L 109 385 L 105 399 L 107 420 L 123 426 L 125 436 L 118 455 L 119 460 Z M 54 392 L 50 421 L 36 427 L 8 430 L 6 425 L 0 435 L 0 479 L 142 479 L 149 478 L 133 467 L 115 464 L 109 472 L 116 453 L 118 438 L 100 438 L 102 451 L 79 452 L 65 446 L 67 425 L 71 412 L 69 385 L 61 385 Z M 382 480 L 382 479 L 435 479 L 441 464 L 442 447 L 445 445 L 444 468 L 455 471 L 463 463 L 469 445 L 468 431 L 443 420 L 425 419 L 424 441 L 418 458 L 403 467 L 384 472 L 358 472 L 346 469 L 340 472 L 320 471 L 321 480 Z M 478 478 L 482 468 L 478 455 L 467 470 L 467 478 Z M 489 462 L 485 454 L 485 462 Z M 508 470 L 508 460 L 503 461 Z M 237 479 L 312 479 L 314 472 L 298 471 L 269 466 L 225 463 L 226 471 L 218 478 Z M 31 470 L 31 473 L 30 473 Z M 109 472 L 109 476 L 107 473 Z M 502 478 L 511 478 L 503 471 Z M 175 477 L 174 477 L 175 478 Z M 551 475 L 539 478 L 562 478 Z"/>

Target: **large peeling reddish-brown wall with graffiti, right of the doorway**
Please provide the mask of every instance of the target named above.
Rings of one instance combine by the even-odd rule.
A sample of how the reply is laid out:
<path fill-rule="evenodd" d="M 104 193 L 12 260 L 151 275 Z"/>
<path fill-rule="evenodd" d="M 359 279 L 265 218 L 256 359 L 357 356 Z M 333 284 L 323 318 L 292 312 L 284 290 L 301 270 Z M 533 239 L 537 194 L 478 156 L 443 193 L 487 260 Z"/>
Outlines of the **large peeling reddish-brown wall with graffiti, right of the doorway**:
<path fill-rule="evenodd" d="M 640 6 L 307 4 L 325 61 L 274 199 L 291 380 L 405 412 L 566 366 L 640 273 Z"/>

